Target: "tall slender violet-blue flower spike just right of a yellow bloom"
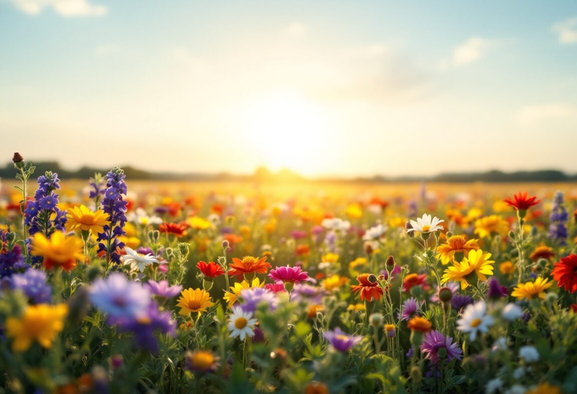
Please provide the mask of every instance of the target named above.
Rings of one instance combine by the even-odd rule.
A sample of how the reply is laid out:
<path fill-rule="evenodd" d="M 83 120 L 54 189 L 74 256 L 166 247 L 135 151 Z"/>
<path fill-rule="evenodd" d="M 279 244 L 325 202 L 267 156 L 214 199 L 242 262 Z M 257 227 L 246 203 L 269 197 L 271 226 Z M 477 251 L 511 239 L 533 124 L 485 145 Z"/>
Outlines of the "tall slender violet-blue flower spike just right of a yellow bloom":
<path fill-rule="evenodd" d="M 125 234 L 123 228 L 126 223 L 126 204 L 122 199 L 126 195 L 124 170 L 114 167 L 106 174 L 106 191 L 102 200 L 102 209 L 108 214 L 109 225 L 104 226 L 103 232 L 98 233 L 98 252 L 106 252 L 110 261 L 119 264 L 120 255 L 117 248 L 123 248 L 124 243 L 117 237 Z"/>

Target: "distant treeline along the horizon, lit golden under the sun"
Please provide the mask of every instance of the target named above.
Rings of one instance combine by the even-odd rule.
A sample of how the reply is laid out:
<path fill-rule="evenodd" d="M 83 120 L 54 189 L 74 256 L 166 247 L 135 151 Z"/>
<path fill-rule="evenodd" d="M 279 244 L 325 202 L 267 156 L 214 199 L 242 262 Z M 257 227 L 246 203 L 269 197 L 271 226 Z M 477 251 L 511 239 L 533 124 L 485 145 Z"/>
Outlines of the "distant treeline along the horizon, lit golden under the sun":
<path fill-rule="evenodd" d="M 60 179 L 88 179 L 94 176 L 95 172 L 103 175 L 109 170 L 107 168 L 91 168 L 83 166 L 76 171 L 62 168 L 56 161 L 35 162 L 35 176 L 42 175 L 46 171 L 57 172 Z M 176 172 L 151 172 L 134 168 L 132 166 L 122 167 L 128 179 L 134 180 L 188 180 L 188 181 L 258 181 L 258 182 L 297 182 L 297 181 L 330 181 L 330 182 L 411 182 L 411 181 L 432 181 L 432 182 L 570 182 L 577 181 L 577 174 L 568 175 L 563 171 L 545 169 L 538 171 L 516 171 L 503 172 L 492 170 L 486 172 L 463 172 L 463 173 L 441 173 L 435 176 L 381 176 L 357 177 L 354 179 L 344 179 L 339 177 L 320 177 L 307 179 L 288 169 L 278 172 L 271 172 L 265 167 L 259 167 L 252 175 L 235 175 L 227 172 L 220 173 L 176 173 Z M 4 179 L 14 179 L 16 169 L 14 164 L 9 162 L 0 168 L 0 177 Z"/>

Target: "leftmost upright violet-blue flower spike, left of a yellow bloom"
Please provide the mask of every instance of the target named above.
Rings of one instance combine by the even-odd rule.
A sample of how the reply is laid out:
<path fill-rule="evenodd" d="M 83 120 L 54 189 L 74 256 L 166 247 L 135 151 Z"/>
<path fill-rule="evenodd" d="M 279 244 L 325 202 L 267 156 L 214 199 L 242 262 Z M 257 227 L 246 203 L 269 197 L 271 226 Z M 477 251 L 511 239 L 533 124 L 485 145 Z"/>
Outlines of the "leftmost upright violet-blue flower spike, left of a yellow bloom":
<path fill-rule="evenodd" d="M 54 192 L 60 188 L 58 174 L 47 171 L 38 177 L 38 190 L 33 201 L 28 201 L 24 210 L 24 223 L 29 226 L 28 233 L 41 232 L 50 237 L 54 230 L 64 230 L 66 211 L 59 210 L 58 195 Z M 56 214 L 54 219 L 53 214 Z"/>

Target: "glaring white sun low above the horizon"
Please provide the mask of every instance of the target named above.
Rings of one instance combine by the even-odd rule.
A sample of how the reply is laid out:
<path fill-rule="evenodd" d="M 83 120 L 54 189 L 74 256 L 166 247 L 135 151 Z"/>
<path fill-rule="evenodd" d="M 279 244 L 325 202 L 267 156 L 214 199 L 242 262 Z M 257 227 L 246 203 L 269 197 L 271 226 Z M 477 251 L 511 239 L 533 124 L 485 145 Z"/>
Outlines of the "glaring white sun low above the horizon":
<path fill-rule="evenodd" d="M 322 155 L 335 129 L 320 103 L 296 92 L 273 92 L 250 99 L 242 112 L 243 134 L 263 165 L 309 176 L 323 171 Z"/>

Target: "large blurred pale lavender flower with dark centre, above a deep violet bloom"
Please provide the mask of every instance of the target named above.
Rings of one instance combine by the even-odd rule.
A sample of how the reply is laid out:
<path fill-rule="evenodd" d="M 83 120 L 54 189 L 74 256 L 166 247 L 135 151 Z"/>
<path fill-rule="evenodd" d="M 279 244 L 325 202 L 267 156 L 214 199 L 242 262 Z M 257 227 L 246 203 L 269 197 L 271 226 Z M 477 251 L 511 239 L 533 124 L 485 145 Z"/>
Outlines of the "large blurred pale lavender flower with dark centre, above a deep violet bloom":
<path fill-rule="evenodd" d="M 129 281 L 121 273 L 114 272 L 106 280 L 99 278 L 92 283 L 90 300 L 108 313 L 110 322 L 114 323 L 116 319 L 146 316 L 151 295 L 140 283 Z"/>

